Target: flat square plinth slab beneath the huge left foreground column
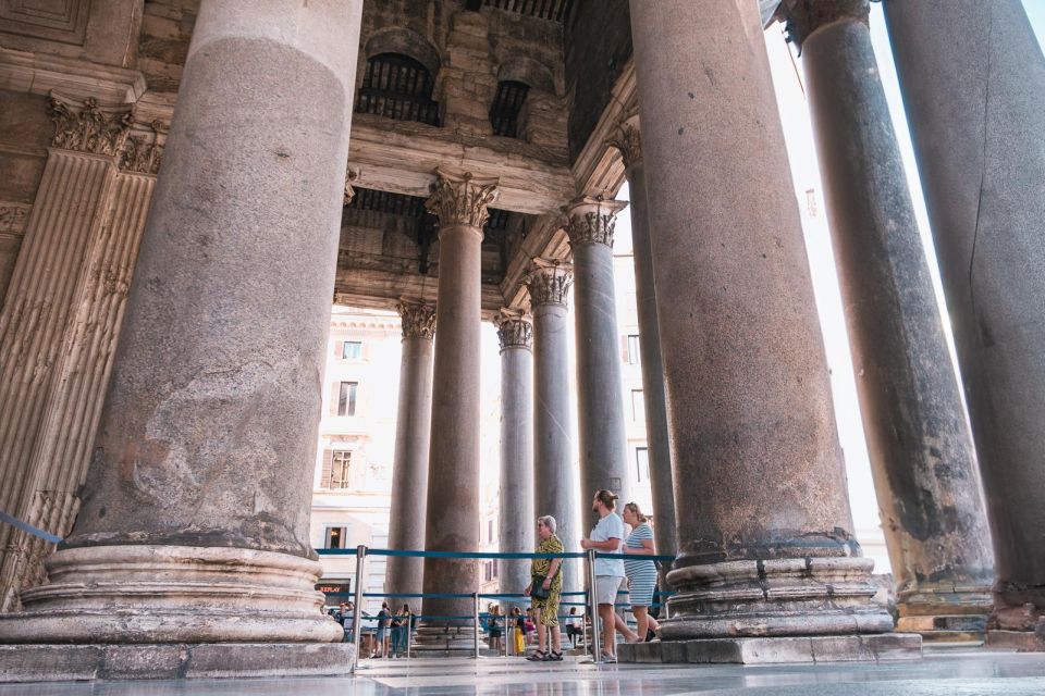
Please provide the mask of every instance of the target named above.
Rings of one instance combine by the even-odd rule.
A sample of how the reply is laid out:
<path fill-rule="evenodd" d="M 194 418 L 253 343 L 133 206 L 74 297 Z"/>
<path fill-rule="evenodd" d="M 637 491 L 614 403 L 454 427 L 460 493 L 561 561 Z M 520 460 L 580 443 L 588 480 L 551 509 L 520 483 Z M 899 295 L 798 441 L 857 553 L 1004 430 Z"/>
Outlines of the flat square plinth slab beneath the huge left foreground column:
<path fill-rule="evenodd" d="M 3 645 L 0 682 L 331 676 L 354 655 L 351 643 Z"/>

